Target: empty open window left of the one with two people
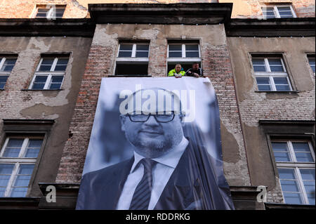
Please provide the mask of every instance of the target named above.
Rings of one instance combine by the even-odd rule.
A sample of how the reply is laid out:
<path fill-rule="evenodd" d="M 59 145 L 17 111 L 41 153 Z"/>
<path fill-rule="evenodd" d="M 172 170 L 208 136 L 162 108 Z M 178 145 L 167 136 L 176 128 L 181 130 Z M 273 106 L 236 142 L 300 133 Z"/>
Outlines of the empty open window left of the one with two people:
<path fill-rule="evenodd" d="M 147 75 L 149 43 L 121 43 L 117 53 L 116 75 Z"/>

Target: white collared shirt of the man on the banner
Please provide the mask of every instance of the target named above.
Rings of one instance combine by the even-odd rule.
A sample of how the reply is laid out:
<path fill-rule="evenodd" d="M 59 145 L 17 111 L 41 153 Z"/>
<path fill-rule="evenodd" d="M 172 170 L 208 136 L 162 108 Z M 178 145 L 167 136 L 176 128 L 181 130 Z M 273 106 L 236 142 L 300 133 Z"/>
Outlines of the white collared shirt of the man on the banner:
<path fill-rule="evenodd" d="M 189 142 L 183 136 L 181 142 L 176 147 L 171 149 L 167 154 L 164 154 L 162 157 L 152 159 L 156 161 L 157 164 L 152 169 L 152 195 L 150 197 L 148 210 L 152 210 L 154 209 L 154 206 L 156 206 L 158 199 L 160 195 L 162 195 L 164 187 L 166 186 L 166 183 L 168 183 L 171 174 L 173 173 L 174 169 L 176 169 L 180 157 L 182 156 L 188 144 Z M 144 166 L 143 164 L 137 166 L 138 162 L 140 162 L 140 159 L 143 158 L 143 156 L 134 151 L 134 162 L 129 176 L 124 183 L 121 196 L 119 197 L 117 210 L 129 209 L 135 189 L 140 180 L 143 178 Z"/>

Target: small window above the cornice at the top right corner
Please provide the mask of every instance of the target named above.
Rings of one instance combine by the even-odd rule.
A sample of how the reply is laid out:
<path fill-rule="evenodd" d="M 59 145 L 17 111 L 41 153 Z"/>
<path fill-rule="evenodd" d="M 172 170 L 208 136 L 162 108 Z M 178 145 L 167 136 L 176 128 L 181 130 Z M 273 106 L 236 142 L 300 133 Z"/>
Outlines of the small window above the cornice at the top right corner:
<path fill-rule="evenodd" d="M 265 6 L 262 7 L 263 17 L 270 18 L 296 18 L 291 5 Z"/>

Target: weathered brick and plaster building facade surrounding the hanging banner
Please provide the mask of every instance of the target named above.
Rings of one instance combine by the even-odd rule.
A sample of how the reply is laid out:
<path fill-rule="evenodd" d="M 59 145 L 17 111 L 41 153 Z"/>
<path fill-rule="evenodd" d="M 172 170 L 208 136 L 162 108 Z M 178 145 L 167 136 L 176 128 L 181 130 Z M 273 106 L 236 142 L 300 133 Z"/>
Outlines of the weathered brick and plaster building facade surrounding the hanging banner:
<path fill-rule="evenodd" d="M 166 77 L 175 43 L 198 46 L 180 60 L 215 88 L 236 209 L 315 208 L 314 1 L 2 4 L 1 208 L 74 209 L 101 79 Z M 124 43 L 148 57 L 121 60 Z"/>

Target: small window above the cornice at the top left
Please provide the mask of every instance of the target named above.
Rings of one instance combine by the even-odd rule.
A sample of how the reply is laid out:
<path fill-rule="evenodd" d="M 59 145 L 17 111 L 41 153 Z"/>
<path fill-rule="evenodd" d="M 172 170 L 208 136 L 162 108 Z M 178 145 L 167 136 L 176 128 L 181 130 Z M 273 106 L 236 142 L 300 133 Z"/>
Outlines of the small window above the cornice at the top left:
<path fill-rule="evenodd" d="M 66 6 L 54 6 L 54 5 L 47 5 L 47 6 L 37 6 L 37 11 L 35 18 L 47 18 L 47 19 L 54 19 L 54 18 L 62 18 L 64 15 Z"/>

